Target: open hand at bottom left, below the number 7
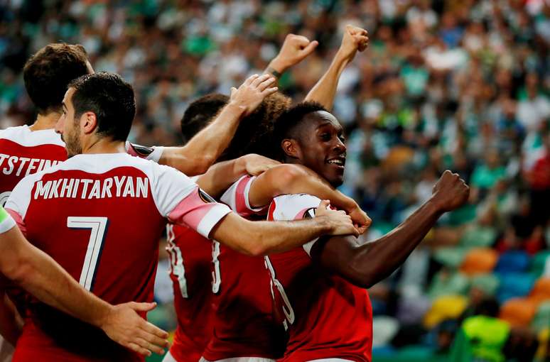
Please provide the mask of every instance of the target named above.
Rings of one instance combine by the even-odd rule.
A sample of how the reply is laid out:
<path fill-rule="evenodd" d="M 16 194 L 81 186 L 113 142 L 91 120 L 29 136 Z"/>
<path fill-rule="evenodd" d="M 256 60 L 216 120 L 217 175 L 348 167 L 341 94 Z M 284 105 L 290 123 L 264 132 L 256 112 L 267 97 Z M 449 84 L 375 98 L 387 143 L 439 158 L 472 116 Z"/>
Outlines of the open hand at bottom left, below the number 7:
<path fill-rule="evenodd" d="M 163 354 L 168 347 L 168 333 L 141 318 L 138 312 L 149 312 L 156 303 L 129 302 L 112 307 L 101 329 L 110 339 L 127 349 L 151 356 Z"/>

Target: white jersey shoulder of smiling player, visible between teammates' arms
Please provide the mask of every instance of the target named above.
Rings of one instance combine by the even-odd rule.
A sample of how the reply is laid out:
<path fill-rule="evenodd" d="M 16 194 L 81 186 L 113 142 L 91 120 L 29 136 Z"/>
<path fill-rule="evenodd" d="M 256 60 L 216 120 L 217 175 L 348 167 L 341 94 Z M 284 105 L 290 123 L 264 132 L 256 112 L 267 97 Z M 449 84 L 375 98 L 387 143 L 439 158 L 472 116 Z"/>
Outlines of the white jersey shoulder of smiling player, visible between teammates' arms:
<path fill-rule="evenodd" d="M 319 206 L 321 200 L 311 194 L 284 194 L 277 196 L 269 206 L 273 220 L 303 219 L 306 212 Z"/>

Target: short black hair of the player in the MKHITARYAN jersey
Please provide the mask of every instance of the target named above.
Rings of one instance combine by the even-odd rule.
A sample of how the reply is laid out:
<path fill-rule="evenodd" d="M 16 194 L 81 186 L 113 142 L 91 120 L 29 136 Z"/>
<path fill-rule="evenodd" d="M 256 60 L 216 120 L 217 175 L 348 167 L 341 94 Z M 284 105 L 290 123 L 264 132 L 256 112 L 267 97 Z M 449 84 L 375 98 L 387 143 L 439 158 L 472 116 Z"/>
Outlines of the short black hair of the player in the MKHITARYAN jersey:
<path fill-rule="evenodd" d="M 74 88 L 75 119 L 86 111 L 97 118 L 97 133 L 113 141 L 126 141 L 136 115 L 134 89 L 120 75 L 99 72 L 83 75 L 69 84 Z"/>

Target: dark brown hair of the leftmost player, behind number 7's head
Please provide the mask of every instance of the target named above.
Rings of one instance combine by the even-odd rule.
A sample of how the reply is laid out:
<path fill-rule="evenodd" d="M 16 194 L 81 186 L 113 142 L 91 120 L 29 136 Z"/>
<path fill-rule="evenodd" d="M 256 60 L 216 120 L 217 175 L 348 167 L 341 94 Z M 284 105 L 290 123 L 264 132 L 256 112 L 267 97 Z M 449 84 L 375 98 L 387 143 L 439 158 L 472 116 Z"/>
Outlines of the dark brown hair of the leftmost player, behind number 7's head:
<path fill-rule="evenodd" d="M 87 74 L 87 53 L 80 44 L 48 44 L 23 67 L 28 97 L 40 114 L 60 111 L 69 82 Z"/>

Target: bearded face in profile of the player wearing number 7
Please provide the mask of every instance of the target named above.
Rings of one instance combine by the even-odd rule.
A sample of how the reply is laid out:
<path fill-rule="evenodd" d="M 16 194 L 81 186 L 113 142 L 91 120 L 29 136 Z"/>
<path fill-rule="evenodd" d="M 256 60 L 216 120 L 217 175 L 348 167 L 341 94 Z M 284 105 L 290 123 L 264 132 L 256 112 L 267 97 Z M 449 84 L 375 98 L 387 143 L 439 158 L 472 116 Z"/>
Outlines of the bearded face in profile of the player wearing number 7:
<path fill-rule="evenodd" d="M 80 122 L 75 120 L 75 108 L 72 106 L 72 94 L 74 88 L 69 88 L 63 97 L 63 114 L 55 124 L 55 132 L 60 133 L 61 139 L 65 142 L 65 149 L 68 157 L 82 153 L 80 143 Z"/>

